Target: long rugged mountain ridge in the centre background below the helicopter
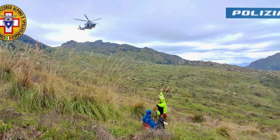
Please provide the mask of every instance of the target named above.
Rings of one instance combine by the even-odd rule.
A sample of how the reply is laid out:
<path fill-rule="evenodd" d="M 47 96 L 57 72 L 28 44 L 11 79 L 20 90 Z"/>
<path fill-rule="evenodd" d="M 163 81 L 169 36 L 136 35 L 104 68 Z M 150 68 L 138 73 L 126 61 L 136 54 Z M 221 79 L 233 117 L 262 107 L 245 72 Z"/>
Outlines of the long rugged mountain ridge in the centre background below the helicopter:
<path fill-rule="evenodd" d="M 158 64 L 178 64 L 178 61 L 183 59 L 177 55 L 169 55 L 166 53 L 155 51 L 151 48 L 137 48 L 128 44 L 116 44 L 110 42 L 102 42 L 97 40 L 95 42 L 76 42 L 70 40 L 61 45 L 62 47 L 76 48 L 77 50 L 91 51 L 103 53 L 106 55 L 126 57 L 137 61 L 152 62 Z"/>

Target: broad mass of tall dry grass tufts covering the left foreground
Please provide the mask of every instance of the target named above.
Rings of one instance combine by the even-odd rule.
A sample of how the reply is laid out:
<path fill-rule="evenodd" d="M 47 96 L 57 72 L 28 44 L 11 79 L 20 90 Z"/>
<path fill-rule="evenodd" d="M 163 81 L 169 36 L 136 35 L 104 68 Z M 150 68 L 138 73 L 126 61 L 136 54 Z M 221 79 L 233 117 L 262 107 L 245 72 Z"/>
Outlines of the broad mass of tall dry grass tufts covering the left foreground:
<path fill-rule="evenodd" d="M 58 108 L 64 113 L 85 115 L 96 120 L 118 118 L 118 94 L 126 90 L 127 79 L 117 78 L 115 72 L 121 70 L 124 57 L 117 59 L 117 63 L 104 71 L 105 74 L 98 67 L 98 73 L 86 78 L 87 82 L 83 79 L 72 85 L 77 83 L 74 81 L 77 78 L 73 74 L 75 72 L 63 74 L 59 61 L 53 64 L 55 57 L 54 61 L 45 58 L 44 50 L 40 50 L 37 44 L 35 49 L 34 46 L 32 48 L 25 47 L 16 52 L 16 49 L 0 46 L 1 79 L 9 79 L 11 90 L 8 97 L 18 101 L 23 110 L 36 112 Z M 57 48 L 55 54 L 59 51 Z M 73 55 L 74 51 L 75 48 L 72 48 L 69 53 L 68 64 L 78 57 Z"/>

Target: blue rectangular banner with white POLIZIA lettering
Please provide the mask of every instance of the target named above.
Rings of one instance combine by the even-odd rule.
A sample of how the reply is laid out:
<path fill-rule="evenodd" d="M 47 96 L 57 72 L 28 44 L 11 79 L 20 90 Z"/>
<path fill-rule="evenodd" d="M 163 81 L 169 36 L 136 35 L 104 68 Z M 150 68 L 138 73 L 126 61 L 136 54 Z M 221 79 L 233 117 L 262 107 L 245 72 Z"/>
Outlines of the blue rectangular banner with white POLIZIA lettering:
<path fill-rule="evenodd" d="M 280 18 L 280 8 L 226 8 L 226 18 Z"/>

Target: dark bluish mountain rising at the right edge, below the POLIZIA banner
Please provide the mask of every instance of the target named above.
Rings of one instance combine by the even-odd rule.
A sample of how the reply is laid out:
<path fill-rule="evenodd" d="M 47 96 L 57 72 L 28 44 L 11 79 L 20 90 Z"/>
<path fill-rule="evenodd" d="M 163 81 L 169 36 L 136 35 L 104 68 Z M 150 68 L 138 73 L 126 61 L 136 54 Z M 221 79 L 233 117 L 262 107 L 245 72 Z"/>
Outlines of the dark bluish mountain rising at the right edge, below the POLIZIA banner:
<path fill-rule="evenodd" d="M 252 62 L 247 68 L 259 70 L 280 70 L 280 53 Z"/>

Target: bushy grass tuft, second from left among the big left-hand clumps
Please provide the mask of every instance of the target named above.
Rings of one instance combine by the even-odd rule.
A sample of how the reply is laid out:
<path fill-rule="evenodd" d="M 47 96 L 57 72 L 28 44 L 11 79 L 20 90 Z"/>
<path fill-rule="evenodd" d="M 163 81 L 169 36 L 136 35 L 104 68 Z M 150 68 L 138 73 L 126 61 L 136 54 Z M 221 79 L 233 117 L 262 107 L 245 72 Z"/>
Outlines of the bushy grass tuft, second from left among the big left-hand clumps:
<path fill-rule="evenodd" d="M 61 108 L 66 101 L 64 81 L 55 76 L 54 73 L 42 71 L 36 82 L 38 83 L 35 83 L 22 95 L 21 107 L 29 111 Z M 26 104 L 27 102 L 28 104 Z"/>

